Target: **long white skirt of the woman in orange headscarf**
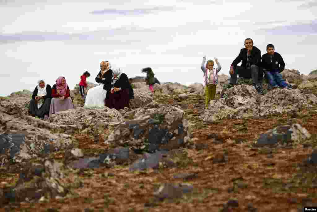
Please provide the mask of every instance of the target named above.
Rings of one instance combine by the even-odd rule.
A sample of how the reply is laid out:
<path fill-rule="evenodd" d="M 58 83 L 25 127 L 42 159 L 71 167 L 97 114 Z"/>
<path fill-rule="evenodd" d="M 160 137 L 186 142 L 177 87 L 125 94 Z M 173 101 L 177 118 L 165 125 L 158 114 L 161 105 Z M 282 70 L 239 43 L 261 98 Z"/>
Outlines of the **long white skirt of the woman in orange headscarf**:
<path fill-rule="evenodd" d="M 90 88 L 87 91 L 85 107 L 103 107 L 105 106 L 107 91 L 103 89 L 103 84 Z"/>

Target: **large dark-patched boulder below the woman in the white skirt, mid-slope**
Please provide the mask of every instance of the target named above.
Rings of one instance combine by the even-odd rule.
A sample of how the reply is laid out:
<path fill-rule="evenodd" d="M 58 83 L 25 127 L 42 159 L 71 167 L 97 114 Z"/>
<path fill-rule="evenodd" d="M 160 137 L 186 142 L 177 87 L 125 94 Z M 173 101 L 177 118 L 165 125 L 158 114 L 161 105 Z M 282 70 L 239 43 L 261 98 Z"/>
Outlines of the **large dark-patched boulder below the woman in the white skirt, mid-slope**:
<path fill-rule="evenodd" d="M 140 110 L 143 116 L 120 123 L 105 142 L 154 152 L 179 148 L 189 141 L 183 110 L 174 106 Z"/>

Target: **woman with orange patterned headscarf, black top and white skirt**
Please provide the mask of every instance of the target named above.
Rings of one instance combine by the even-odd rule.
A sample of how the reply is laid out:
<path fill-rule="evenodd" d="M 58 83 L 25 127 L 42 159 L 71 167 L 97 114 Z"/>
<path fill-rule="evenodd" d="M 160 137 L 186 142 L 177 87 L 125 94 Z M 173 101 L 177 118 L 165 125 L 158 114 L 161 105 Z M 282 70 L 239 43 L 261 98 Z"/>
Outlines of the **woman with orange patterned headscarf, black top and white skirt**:
<path fill-rule="evenodd" d="M 96 76 L 96 82 L 99 86 L 90 88 L 87 91 L 85 100 L 85 107 L 103 107 L 105 106 L 105 99 L 107 90 L 110 89 L 112 78 L 111 65 L 108 61 L 100 63 L 100 72 Z"/>

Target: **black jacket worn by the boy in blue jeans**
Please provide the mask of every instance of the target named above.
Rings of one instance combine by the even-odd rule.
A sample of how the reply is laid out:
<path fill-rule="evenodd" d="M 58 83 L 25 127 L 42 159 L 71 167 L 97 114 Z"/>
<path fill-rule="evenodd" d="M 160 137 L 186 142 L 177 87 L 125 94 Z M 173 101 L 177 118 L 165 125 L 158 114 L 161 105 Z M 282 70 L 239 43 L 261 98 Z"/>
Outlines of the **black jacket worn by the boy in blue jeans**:
<path fill-rule="evenodd" d="M 281 73 L 285 68 L 285 63 L 282 56 L 275 52 L 274 55 L 269 55 L 268 53 L 262 55 L 261 57 L 261 67 L 267 71 L 279 72 Z"/>

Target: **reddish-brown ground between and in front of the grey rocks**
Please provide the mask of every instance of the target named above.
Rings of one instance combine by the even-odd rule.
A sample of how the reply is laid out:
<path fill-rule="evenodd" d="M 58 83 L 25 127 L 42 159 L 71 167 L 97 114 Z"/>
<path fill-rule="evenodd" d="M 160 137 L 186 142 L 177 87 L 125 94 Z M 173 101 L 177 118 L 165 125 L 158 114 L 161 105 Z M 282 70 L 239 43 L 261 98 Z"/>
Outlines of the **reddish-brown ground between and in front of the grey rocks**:
<path fill-rule="evenodd" d="M 195 123 L 194 148 L 176 153 L 177 168 L 130 173 L 126 164 L 112 169 L 81 170 L 74 175 L 80 176 L 83 186 L 71 189 L 68 198 L 11 204 L 0 211 L 221 211 L 230 199 L 236 200 L 238 206 L 224 211 L 255 211 L 250 203 L 261 212 L 295 212 L 303 205 L 317 206 L 317 168 L 302 165 L 317 142 L 317 108 L 260 119 L 203 123 L 198 119 L 204 108 L 201 96 L 186 100 L 157 96 L 156 100 L 180 105 L 185 118 Z M 286 123 L 301 124 L 313 134 L 312 141 L 291 148 L 252 146 L 260 133 Z M 75 137 L 86 155 L 108 148 L 101 140 Z M 213 163 L 214 158 L 224 155 L 228 156 L 227 162 Z M 54 155 L 58 160 L 64 156 L 63 152 Z M 1 187 L 16 182 L 18 174 L 13 170 L 1 170 Z M 180 173 L 195 175 L 187 180 L 173 178 Z M 179 199 L 155 201 L 153 192 L 162 183 L 190 183 L 194 191 Z"/>

